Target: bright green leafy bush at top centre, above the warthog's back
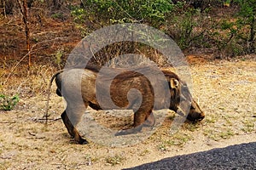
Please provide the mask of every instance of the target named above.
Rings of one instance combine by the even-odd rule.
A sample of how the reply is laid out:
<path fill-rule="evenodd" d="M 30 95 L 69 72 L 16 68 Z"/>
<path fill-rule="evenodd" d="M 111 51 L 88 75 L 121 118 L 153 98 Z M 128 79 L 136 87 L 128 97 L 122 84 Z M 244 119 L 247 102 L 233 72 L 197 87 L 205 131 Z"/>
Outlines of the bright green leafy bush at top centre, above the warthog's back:
<path fill-rule="evenodd" d="M 82 0 L 80 8 L 74 8 L 72 14 L 79 22 L 89 21 L 100 26 L 139 22 L 159 27 L 173 7 L 167 0 Z"/>

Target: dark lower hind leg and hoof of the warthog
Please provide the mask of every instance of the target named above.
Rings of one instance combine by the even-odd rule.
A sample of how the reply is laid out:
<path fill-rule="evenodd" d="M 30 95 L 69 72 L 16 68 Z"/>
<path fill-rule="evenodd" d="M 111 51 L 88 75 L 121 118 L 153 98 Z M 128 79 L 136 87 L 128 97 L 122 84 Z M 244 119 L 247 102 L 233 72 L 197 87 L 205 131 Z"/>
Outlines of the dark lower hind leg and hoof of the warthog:
<path fill-rule="evenodd" d="M 72 122 L 67 116 L 66 111 L 61 114 L 61 119 L 67 127 L 68 133 L 73 137 L 73 139 L 75 139 L 79 144 L 88 144 L 88 141 L 86 139 L 83 139 L 80 136 L 79 131 L 73 126 Z"/>

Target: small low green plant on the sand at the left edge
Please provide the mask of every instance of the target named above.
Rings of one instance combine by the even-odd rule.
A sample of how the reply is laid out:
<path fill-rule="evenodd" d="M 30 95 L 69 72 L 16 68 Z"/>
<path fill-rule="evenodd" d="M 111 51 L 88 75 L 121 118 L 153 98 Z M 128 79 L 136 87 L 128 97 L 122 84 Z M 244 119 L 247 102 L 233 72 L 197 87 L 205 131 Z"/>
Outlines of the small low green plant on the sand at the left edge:
<path fill-rule="evenodd" d="M 13 110 L 15 105 L 19 102 L 19 100 L 19 95 L 9 97 L 7 95 L 0 94 L 0 109 L 4 111 Z"/>

